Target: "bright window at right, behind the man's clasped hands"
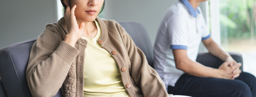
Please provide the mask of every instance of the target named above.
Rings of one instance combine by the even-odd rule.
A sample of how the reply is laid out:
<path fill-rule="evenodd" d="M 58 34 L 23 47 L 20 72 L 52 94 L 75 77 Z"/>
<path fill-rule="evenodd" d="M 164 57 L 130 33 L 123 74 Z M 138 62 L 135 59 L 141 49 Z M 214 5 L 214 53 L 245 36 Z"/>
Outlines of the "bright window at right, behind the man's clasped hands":
<path fill-rule="evenodd" d="M 214 40 L 241 53 L 243 70 L 256 75 L 256 0 L 209 0 L 209 6 Z"/>

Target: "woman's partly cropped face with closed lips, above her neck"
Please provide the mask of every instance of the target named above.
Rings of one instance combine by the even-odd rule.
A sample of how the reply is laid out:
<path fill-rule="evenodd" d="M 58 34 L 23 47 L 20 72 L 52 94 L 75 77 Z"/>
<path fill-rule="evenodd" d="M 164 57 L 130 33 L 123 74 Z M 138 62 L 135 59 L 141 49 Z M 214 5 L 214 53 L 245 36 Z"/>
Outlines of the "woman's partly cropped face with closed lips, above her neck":
<path fill-rule="evenodd" d="M 65 0 L 64 0 L 65 1 Z M 100 13 L 104 0 L 71 0 L 71 7 L 76 4 L 75 16 L 78 21 L 92 22 Z"/>

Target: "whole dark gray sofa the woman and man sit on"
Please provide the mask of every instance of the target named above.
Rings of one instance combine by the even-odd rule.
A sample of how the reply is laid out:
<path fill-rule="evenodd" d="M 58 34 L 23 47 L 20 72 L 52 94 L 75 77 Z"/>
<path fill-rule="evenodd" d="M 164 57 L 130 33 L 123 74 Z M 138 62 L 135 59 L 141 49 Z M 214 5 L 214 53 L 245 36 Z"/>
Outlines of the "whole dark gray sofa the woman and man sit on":
<path fill-rule="evenodd" d="M 153 66 L 153 46 L 145 28 L 134 22 L 119 23 L 130 34 L 135 44 L 145 53 L 149 65 Z M 32 97 L 26 80 L 26 66 L 31 46 L 35 41 L 36 38 L 33 38 L 0 50 L 0 97 Z M 236 61 L 243 63 L 240 54 L 230 54 Z M 223 61 L 209 53 L 200 53 L 197 61 L 215 68 L 223 63 Z M 54 97 L 62 97 L 61 90 Z"/>

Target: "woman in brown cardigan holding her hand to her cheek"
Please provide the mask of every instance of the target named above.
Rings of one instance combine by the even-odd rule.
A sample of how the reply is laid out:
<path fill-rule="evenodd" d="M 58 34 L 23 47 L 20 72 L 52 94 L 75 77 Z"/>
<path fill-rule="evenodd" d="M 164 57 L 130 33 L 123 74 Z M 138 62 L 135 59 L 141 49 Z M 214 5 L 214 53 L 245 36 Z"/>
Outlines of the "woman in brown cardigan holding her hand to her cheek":
<path fill-rule="evenodd" d="M 61 0 L 65 15 L 46 25 L 26 71 L 34 97 L 167 97 L 165 85 L 117 22 L 98 16 L 104 0 Z"/>

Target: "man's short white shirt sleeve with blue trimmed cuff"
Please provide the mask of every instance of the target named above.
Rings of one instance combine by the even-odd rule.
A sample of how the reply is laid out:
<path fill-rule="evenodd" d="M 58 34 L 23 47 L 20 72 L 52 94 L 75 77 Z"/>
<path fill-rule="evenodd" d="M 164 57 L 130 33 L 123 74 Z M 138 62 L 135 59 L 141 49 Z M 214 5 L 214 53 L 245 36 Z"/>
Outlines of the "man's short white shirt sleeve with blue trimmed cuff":
<path fill-rule="evenodd" d="M 174 15 L 165 23 L 171 49 L 186 49 L 188 45 L 187 21 L 181 15 Z"/>

